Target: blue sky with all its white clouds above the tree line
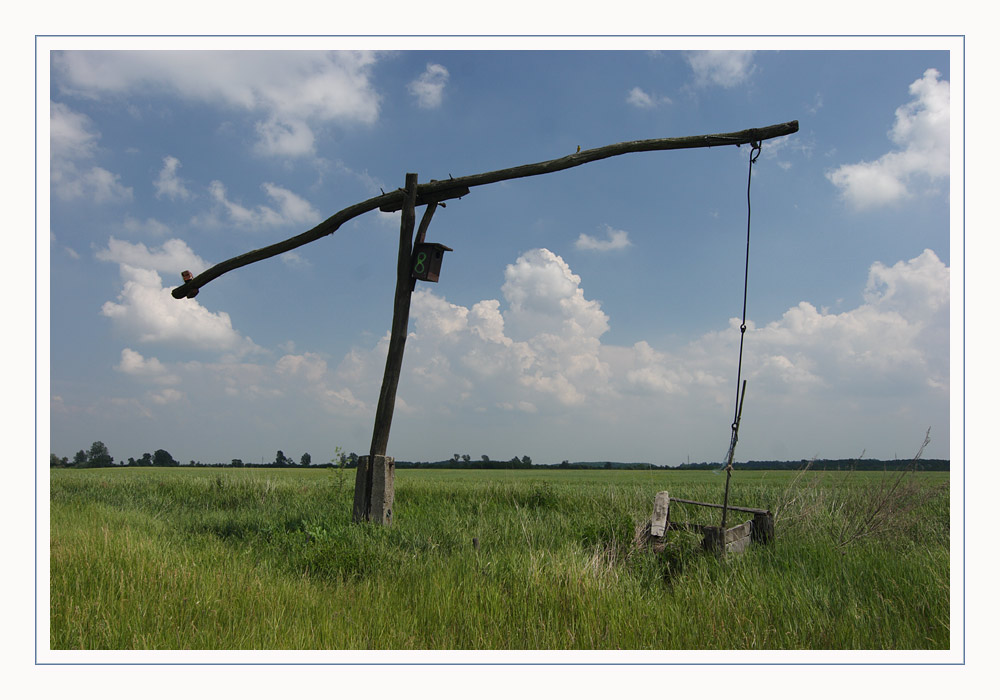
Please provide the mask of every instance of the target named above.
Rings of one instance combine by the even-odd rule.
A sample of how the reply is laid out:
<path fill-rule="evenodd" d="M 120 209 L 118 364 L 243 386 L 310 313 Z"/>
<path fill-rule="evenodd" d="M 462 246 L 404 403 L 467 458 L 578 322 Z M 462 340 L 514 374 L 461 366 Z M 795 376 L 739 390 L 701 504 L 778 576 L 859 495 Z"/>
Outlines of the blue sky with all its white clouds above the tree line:
<path fill-rule="evenodd" d="M 928 427 L 925 456 L 948 457 L 953 57 L 660 43 L 49 54 L 51 451 L 364 453 L 398 214 L 196 299 L 170 296 L 180 272 L 312 228 L 407 172 L 797 119 L 753 171 L 737 459 L 908 457 Z M 413 297 L 389 453 L 721 460 L 748 156 L 626 155 L 439 209 L 428 240 L 454 252 Z"/>

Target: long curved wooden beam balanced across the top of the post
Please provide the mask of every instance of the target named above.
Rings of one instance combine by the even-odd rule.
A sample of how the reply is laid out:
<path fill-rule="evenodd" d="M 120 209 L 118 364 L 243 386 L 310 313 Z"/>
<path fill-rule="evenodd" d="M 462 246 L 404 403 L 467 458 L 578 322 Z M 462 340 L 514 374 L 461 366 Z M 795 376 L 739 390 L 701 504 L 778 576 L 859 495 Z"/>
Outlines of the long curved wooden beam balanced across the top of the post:
<path fill-rule="evenodd" d="M 669 151 L 686 148 L 710 148 L 712 146 L 733 146 L 764 141 L 766 139 L 777 138 L 779 136 L 787 136 L 788 134 L 794 134 L 798 130 L 799 123 L 797 121 L 790 121 L 783 124 L 772 124 L 771 126 L 765 126 L 759 129 L 745 129 L 743 131 L 735 131 L 727 134 L 706 134 L 704 136 L 681 136 L 676 138 L 646 139 L 643 141 L 625 141 L 623 143 L 616 143 L 610 146 L 602 146 L 600 148 L 580 151 L 579 153 L 574 153 L 562 158 L 556 158 L 554 160 L 547 160 L 541 163 L 520 165 L 514 168 L 493 170 L 477 175 L 450 178 L 448 180 L 431 180 L 428 183 L 417 186 L 417 198 L 414 204 L 416 206 L 420 206 L 421 204 L 437 203 L 446 199 L 461 197 L 467 192 L 467 189 L 471 187 L 488 185 L 494 182 L 501 182 L 503 180 L 513 180 L 516 178 L 531 177 L 533 175 L 554 173 L 560 170 L 566 170 L 567 168 L 575 168 L 579 165 L 592 163 L 597 160 L 624 155 L 626 153 Z M 305 245 L 306 243 L 319 240 L 323 236 L 329 236 L 351 219 L 375 209 L 382 209 L 384 211 L 399 210 L 403 207 L 403 201 L 403 190 L 395 190 L 393 192 L 388 192 L 378 197 L 372 197 L 371 199 L 366 199 L 363 202 L 353 204 L 346 209 L 340 210 L 326 221 L 304 233 L 300 233 L 297 236 L 293 236 L 287 240 L 274 243 L 273 245 L 269 245 L 264 248 L 251 250 L 247 253 L 243 253 L 242 255 L 237 255 L 234 258 L 230 258 L 229 260 L 213 265 L 209 269 L 195 276 L 193 279 L 184 282 L 184 284 L 179 287 L 174 288 L 171 294 L 173 294 L 175 299 L 183 299 L 187 297 L 190 292 L 201 289 L 212 280 L 224 275 L 227 272 L 260 260 L 266 260 L 267 258 L 274 257 L 275 255 L 287 253 L 288 251 L 294 250 L 295 248 Z"/>

